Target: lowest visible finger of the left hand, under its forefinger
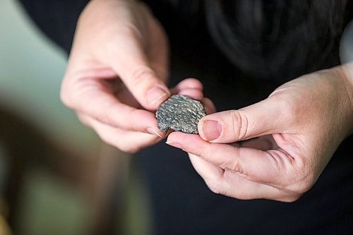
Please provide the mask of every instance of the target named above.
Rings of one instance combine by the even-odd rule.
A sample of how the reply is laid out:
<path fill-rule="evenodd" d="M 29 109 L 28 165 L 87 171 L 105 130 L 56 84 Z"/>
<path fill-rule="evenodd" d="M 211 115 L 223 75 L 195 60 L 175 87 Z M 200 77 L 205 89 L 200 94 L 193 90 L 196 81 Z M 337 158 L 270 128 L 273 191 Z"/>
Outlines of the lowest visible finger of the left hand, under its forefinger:
<path fill-rule="evenodd" d="M 152 145 L 162 140 L 162 138 L 148 133 L 140 133 L 137 131 L 124 131 L 120 128 L 113 128 L 104 123 L 90 118 L 89 116 L 80 115 L 80 121 L 92 127 L 102 140 L 113 145 L 124 152 L 136 152 L 140 148 Z"/>

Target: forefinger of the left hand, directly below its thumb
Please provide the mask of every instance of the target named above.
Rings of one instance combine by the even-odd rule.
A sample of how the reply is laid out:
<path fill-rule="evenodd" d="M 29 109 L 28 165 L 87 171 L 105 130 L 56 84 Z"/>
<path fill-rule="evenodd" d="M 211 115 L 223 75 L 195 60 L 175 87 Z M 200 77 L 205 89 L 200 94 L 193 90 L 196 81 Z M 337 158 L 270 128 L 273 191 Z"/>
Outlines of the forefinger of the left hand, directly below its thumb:
<path fill-rule="evenodd" d="M 164 135 L 157 128 L 155 114 L 122 104 L 108 88 L 102 86 L 100 80 L 74 81 L 75 84 L 66 84 L 62 89 L 61 97 L 68 107 L 126 131 Z"/>

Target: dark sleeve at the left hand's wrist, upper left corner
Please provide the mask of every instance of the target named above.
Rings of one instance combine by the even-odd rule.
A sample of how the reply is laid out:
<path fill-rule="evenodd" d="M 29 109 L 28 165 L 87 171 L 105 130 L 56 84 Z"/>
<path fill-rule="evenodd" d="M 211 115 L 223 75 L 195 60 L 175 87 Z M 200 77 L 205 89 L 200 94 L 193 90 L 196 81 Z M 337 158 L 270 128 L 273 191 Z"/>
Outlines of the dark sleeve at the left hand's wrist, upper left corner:
<path fill-rule="evenodd" d="M 20 0 L 20 3 L 44 34 L 68 53 L 78 16 L 88 1 Z"/>

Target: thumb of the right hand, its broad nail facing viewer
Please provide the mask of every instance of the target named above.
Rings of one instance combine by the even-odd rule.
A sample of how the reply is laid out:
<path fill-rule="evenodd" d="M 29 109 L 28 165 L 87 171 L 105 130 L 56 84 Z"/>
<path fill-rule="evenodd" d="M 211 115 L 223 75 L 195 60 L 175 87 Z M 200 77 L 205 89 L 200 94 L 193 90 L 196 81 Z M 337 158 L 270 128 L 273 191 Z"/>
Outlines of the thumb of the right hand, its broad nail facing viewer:
<path fill-rule="evenodd" d="M 284 107 L 286 106 L 286 107 Z M 212 143 L 234 143 L 262 135 L 282 133 L 293 112 L 287 102 L 270 97 L 239 110 L 217 112 L 203 117 L 198 133 Z"/>

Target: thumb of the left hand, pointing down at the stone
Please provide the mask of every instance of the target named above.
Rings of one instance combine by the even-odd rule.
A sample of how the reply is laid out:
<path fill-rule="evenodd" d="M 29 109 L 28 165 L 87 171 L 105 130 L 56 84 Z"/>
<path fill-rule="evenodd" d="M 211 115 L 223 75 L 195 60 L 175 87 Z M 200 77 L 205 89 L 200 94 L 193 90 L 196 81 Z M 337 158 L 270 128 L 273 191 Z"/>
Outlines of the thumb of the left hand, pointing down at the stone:
<path fill-rule="evenodd" d="M 110 52 L 109 65 L 118 74 L 133 97 L 145 109 L 155 110 L 169 97 L 169 89 L 150 66 L 142 43 L 136 37 L 128 37 Z"/>

